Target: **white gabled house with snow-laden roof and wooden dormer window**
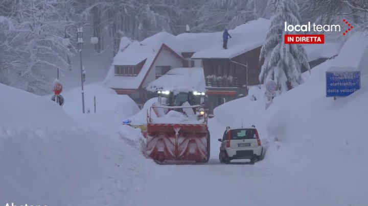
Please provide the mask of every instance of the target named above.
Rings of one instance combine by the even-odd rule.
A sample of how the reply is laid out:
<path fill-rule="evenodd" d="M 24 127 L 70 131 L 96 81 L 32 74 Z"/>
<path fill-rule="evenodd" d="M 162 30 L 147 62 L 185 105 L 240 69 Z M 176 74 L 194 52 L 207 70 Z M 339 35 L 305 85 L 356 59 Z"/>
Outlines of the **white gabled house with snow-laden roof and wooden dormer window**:
<path fill-rule="evenodd" d="M 161 32 L 141 42 L 122 38 L 105 84 L 118 94 L 129 95 L 142 108 L 147 99 L 156 95 L 145 89 L 149 83 L 173 68 L 201 67 L 201 61 L 191 56 L 213 44 L 213 36 L 211 33 L 173 36 Z"/>

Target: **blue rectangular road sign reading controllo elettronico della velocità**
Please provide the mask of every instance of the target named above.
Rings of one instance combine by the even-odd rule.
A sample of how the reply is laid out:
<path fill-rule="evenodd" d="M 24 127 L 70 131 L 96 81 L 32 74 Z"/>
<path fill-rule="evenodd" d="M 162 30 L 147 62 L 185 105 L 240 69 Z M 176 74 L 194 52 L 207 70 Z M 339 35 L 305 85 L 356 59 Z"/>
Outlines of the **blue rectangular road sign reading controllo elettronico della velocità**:
<path fill-rule="evenodd" d="M 360 71 L 326 71 L 326 97 L 349 96 L 360 89 Z"/>

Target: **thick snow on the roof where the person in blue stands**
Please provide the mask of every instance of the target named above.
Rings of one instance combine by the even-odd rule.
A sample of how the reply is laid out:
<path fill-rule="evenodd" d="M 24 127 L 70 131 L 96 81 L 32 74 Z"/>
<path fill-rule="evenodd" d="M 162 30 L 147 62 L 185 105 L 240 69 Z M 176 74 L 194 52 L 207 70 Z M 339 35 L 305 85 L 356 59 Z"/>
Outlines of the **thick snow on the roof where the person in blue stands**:
<path fill-rule="evenodd" d="M 269 25 L 270 21 L 268 19 L 259 18 L 239 25 L 233 30 L 229 30 L 228 33 L 233 38 L 228 39 L 227 49 L 222 48 L 222 32 L 218 32 L 218 38 L 215 44 L 196 52 L 192 58 L 228 59 L 262 46 L 266 39 Z"/>

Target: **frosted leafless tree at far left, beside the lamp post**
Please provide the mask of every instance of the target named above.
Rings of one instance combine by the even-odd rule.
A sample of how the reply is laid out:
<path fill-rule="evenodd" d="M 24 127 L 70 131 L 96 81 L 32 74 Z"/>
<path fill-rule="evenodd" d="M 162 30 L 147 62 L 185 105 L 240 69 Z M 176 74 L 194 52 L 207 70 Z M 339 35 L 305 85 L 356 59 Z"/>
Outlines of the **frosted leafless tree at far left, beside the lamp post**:
<path fill-rule="evenodd" d="M 50 70 L 67 66 L 68 49 L 61 43 L 65 20 L 56 3 L 24 0 L 16 5 L 16 22 L 7 39 L 7 67 L 15 73 L 11 86 L 42 94 L 50 91 Z"/>

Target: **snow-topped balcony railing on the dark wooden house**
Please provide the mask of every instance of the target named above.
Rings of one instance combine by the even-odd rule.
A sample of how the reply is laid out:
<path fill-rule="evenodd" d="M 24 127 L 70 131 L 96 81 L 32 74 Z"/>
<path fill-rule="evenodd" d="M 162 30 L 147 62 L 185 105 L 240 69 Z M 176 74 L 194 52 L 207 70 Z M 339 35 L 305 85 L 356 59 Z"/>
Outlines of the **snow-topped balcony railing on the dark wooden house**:
<path fill-rule="evenodd" d="M 206 87 L 240 88 L 240 80 L 232 75 L 208 75 L 205 78 Z"/>

